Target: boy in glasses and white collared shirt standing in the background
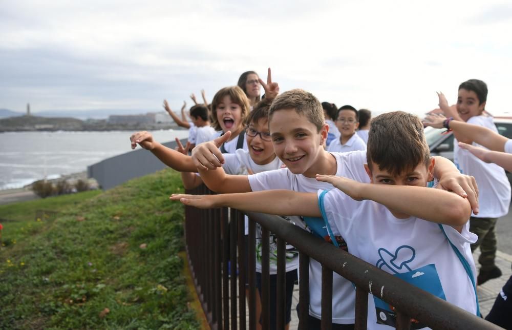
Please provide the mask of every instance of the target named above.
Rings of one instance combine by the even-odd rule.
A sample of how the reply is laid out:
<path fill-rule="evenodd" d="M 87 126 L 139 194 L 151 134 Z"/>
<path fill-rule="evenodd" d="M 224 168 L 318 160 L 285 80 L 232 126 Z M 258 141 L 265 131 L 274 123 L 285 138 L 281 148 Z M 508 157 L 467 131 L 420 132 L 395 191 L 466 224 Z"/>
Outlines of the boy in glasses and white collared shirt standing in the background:
<path fill-rule="evenodd" d="M 359 127 L 359 114 L 352 106 L 339 108 L 336 115 L 336 127 L 340 132 L 339 139 L 332 140 L 327 147 L 330 152 L 349 152 L 366 150 L 366 143 L 356 134 Z"/>

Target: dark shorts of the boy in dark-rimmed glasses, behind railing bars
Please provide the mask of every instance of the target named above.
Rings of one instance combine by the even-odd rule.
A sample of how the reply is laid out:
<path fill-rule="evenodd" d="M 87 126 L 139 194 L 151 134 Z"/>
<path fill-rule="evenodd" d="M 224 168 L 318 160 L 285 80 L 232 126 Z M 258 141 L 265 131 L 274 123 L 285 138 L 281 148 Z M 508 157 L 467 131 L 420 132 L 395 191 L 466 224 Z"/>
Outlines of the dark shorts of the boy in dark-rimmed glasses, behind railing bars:
<path fill-rule="evenodd" d="M 291 300 L 293 296 L 293 286 L 295 285 L 295 281 L 298 279 L 297 277 L 297 270 L 289 271 L 285 275 L 286 278 L 286 294 L 285 294 L 285 301 L 286 301 L 286 314 L 285 314 L 285 324 L 290 323 L 291 321 Z M 262 291 L 262 274 L 256 272 L 256 287 L 258 287 L 258 292 L 260 293 L 261 298 L 261 291 Z M 275 329 L 275 322 L 276 322 L 276 299 L 277 299 L 277 285 L 278 285 L 278 276 L 277 275 L 270 275 L 270 306 L 269 306 L 269 319 L 270 319 L 270 328 L 271 330 Z M 260 319 L 261 323 L 261 319 Z"/>

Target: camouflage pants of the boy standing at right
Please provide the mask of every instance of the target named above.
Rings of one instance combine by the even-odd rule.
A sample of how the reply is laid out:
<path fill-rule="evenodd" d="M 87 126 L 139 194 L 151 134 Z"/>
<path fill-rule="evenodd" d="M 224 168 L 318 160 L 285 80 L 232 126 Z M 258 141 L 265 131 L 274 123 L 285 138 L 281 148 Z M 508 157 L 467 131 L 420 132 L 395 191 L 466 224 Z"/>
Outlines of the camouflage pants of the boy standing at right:
<path fill-rule="evenodd" d="M 471 244 L 471 252 L 480 247 L 478 262 L 482 271 L 490 271 L 496 265 L 496 250 L 498 243 L 496 239 L 496 221 L 498 218 L 470 218 L 470 232 L 478 236 L 478 240 Z"/>

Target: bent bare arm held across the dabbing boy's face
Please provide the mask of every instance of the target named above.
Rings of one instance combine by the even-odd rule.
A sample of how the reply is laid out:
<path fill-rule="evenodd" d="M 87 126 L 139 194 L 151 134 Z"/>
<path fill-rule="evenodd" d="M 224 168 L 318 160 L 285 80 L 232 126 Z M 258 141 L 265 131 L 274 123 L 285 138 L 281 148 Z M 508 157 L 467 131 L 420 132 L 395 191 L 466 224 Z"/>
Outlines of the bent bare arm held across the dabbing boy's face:
<path fill-rule="evenodd" d="M 331 183 L 353 199 L 370 199 L 396 212 L 451 225 L 459 232 L 471 216 L 466 198 L 441 189 L 361 183 L 334 175 L 317 175 L 316 179 Z"/>

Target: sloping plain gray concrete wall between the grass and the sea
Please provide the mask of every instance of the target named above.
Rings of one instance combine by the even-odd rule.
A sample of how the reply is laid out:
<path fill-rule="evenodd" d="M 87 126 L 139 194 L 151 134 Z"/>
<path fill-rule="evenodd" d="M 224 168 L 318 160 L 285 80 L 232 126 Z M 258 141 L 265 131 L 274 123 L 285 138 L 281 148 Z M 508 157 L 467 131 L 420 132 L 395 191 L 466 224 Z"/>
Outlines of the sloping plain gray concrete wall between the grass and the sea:
<path fill-rule="evenodd" d="M 187 139 L 182 139 L 185 145 Z M 174 149 L 176 141 L 163 143 Z M 128 180 L 163 170 L 167 166 L 155 157 L 151 151 L 137 146 L 138 150 L 104 159 L 87 167 L 87 176 L 98 181 L 101 189 L 108 190 Z"/>

